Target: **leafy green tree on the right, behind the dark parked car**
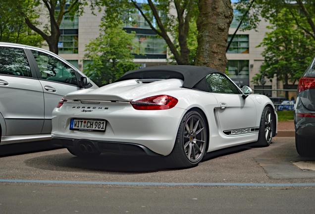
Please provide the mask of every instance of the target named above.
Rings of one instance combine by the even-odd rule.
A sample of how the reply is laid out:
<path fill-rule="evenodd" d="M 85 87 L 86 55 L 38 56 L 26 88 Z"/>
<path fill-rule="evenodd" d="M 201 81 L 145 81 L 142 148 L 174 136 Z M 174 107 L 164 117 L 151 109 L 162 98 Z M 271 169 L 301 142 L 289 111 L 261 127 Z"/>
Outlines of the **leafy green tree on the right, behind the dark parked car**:
<path fill-rule="evenodd" d="M 265 61 L 261 73 L 254 77 L 259 83 L 262 77 L 270 80 L 276 76 L 284 84 L 296 84 L 314 55 L 315 41 L 292 22 L 289 9 L 283 8 L 270 20 L 271 30 L 266 33 L 260 46 Z"/>

